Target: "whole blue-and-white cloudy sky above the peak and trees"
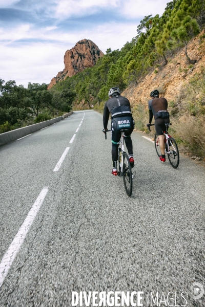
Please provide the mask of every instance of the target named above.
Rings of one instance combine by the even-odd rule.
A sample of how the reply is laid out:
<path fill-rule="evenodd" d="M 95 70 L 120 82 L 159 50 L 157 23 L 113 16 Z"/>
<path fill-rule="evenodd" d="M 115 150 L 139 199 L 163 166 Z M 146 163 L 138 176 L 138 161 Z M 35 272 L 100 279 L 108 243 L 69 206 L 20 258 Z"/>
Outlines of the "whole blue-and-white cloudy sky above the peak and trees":
<path fill-rule="evenodd" d="M 168 0 L 0 0 L 0 78 L 50 83 L 64 54 L 80 39 L 104 53 L 137 35 L 144 16 L 161 15 Z"/>

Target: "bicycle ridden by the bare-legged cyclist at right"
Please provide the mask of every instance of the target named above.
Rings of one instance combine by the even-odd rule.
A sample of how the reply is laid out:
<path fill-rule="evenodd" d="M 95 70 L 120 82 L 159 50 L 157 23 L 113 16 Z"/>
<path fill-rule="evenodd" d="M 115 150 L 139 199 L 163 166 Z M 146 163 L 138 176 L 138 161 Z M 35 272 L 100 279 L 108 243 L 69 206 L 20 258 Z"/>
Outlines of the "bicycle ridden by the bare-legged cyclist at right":
<path fill-rule="evenodd" d="M 176 141 L 174 138 L 172 138 L 170 135 L 168 135 L 168 127 L 171 125 L 171 123 L 166 123 L 166 131 L 163 131 L 163 135 L 165 136 L 165 153 L 168 155 L 168 159 L 170 161 L 170 164 L 172 167 L 177 168 L 179 165 L 179 150 L 178 146 L 176 144 Z M 150 126 L 154 126 L 154 124 L 147 124 L 149 130 Z M 151 131 L 151 130 L 150 130 Z M 157 152 L 158 157 L 161 156 L 161 150 L 159 147 L 159 138 L 157 134 L 155 134 L 154 137 L 154 145 Z"/>

